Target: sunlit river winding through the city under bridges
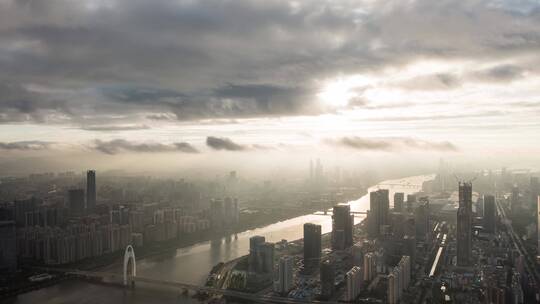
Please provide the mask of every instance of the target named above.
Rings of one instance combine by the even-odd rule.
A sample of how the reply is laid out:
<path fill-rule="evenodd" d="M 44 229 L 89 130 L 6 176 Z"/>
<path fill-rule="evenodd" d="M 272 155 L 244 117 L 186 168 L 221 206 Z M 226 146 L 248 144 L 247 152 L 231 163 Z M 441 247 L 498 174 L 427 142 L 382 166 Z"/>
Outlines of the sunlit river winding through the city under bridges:
<path fill-rule="evenodd" d="M 421 190 L 422 183 L 433 178 L 433 175 L 413 176 L 403 179 L 388 180 L 369 188 L 369 191 L 378 188 L 389 189 L 390 202 L 393 204 L 394 192 L 412 194 Z M 349 202 L 352 211 L 369 210 L 369 194 L 360 199 Z M 365 216 L 355 217 L 355 221 L 363 220 Z M 214 241 L 202 242 L 190 247 L 179 248 L 176 252 L 152 256 L 137 261 L 137 275 L 161 280 L 171 280 L 184 283 L 202 285 L 206 276 L 214 265 L 246 255 L 249 251 L 249 238 L 262 235 L 267 241 L 277 242 L 282 239 L 289 241 L 303 237 L 304 223 L 316 223 L 322 226 L 322 232 L 332 229 L 332 219 L 324 215 L 304 215 L 262 228 L 224 237 Z M 135 252 L 136 254 L 136 252 Z M 107 271 L 121 273 L 120 265 L 113 265 Z M 146 287 L 146 286 L 145 286 Z M 160 292 L 157 292 L 159 290 Z M 185 296 L 179 296 L 177 291 L 170 289 L 135 288 L 123 290 L 88 282 L 72 280 L 59 283 L 52 287 L 19 295 L 10 301 L 12 303 L 196 303 Z"/>

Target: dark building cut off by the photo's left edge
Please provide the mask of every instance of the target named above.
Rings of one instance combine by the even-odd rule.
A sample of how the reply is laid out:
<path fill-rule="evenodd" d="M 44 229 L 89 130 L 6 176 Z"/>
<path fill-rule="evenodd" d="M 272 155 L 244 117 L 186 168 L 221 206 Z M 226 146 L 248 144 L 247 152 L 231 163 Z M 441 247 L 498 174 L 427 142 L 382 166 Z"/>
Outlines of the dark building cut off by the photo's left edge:
<path fill-rule="evenodd" d="M 15 221 L 0 221 L 0 273 L 17 270 Z"/>

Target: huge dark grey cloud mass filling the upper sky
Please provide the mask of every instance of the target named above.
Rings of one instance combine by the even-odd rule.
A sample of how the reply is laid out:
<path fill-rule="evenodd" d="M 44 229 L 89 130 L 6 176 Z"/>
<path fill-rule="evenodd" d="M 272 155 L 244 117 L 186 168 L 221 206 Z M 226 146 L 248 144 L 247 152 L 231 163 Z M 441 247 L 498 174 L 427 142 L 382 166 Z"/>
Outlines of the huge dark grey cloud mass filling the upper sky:
<path fill-rule="evenodd" d="M 48 93 L 2 101 L 0 122 L 318 114 L 328 110 L 315 102 L 319 80 L 424 59 L 534 55 L 538 7 L 487 0 L 1 1 L 2 77 Z M 520 75 L 509 67 L 485 72 L 499 80 Z M 442 73 L 416 87 L 459 84 Z M 65 99 L 59 92 L 66 89 L 74 96 Z M 99 94 L 78 98 L 89 91 Z"/>

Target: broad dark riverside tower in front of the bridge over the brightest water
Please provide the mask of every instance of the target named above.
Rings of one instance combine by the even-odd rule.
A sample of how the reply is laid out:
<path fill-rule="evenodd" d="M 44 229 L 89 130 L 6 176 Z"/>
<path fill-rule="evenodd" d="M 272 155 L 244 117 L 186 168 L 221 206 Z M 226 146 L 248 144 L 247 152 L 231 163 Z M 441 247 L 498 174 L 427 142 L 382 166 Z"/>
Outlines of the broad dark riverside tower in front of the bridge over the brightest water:
<path fill-rule="evenodd" d="M 334 206 L 332 215 L 332 249 L 344 250 L 352 246 L 353 218 L 349 205 Z"/>

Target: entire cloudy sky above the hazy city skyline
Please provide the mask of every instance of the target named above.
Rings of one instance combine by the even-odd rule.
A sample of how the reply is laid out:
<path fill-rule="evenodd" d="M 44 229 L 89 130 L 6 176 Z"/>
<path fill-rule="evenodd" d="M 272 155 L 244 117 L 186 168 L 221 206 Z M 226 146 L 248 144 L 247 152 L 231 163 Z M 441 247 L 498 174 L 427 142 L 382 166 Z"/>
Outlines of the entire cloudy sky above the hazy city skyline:
<path fill-rule="evenodd" d="M 537 1 L 0 0 L 0 171 L 535 167 L 539 51 Z"/>

